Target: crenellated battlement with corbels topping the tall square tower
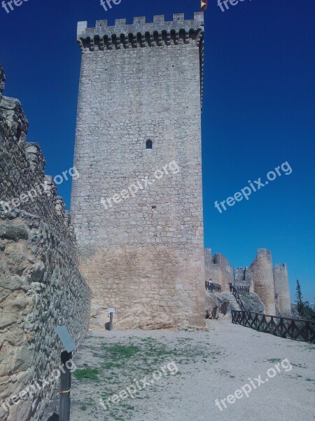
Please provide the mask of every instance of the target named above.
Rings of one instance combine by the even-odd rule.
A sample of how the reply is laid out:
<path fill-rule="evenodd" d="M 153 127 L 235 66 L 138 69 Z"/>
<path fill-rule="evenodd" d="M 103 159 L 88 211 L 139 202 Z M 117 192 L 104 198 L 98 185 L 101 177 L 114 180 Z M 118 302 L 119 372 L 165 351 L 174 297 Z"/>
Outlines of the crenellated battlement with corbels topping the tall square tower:
<path fill-rule="evenodd" d="M 143 48 L 191 44 L 200 46 L 204 34 L 204 13 L 194 13 L 194 19 L 185 20 L 184 13 L 175 13 L 172 21 L 164 15 L 155 15 L 153 22 L 144 16 L 134 18 L 132 25 L 126 19 L 116 19 L 108 26 L 107 20 L 97 20 L 94 28 L 87 22 L 78 22 L 77 40 L 81 51 L 119 50 L 121 48 Z"/>

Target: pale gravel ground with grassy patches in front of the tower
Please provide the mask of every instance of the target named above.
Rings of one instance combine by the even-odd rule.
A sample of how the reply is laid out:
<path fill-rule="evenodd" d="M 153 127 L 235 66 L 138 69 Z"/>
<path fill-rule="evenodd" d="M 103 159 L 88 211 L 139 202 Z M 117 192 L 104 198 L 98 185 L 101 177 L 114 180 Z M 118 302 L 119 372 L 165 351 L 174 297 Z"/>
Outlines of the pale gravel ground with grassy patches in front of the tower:
<path fill-rule="evenodd" d="M 207 323 L 209 332 L 90 333 L 74 357 L 71 421 L 315 420 L 315 345 Z M 137 385 L 134 398 L 123 392 Z M 216 406 L 241 387 L 248 397 Z"/>

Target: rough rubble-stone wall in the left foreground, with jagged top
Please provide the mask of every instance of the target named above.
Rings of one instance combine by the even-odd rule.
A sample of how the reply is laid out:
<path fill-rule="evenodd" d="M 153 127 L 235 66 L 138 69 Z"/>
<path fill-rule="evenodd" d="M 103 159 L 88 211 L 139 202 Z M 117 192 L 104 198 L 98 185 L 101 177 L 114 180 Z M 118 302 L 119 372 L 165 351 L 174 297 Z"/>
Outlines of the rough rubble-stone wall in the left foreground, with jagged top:
<path fill-rule="evenodd" d="M 0 65 L 0 87 L 3 79 Z M 62 351 L 55 326 L 66 325 L 80 344 L 89 323 L 90 289 L 78 270 L 64 203 L 51 178 L 44 183 L 45 162 L 38 145 L 25 142 L 28 123 L 20 102 L 1 95 L 2 90 L 0 420 L 38 421 L 54 382 L 34 385 L 50 377 Z M 45 190 L 28 195 L 40 183 Z M 14 198 L 19 208 L 13 206 Z M 23 393 L 27 387 L 32 387 L 31 394 Z M 18 403 L 8 401 L 13 396 Z M 2 406 L 5 400 L 9 405 Z"/>

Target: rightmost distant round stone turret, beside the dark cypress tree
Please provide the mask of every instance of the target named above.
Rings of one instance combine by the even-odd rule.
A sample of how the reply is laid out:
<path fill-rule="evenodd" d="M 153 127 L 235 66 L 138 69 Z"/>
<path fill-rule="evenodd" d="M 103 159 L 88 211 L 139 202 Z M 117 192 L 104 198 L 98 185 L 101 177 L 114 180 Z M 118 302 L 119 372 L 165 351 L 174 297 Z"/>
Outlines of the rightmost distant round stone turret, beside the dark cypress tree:
<path fill-rule="evenodd" d="M 274 294 L 278 296 L 279 312 L 287 314 L 291 311 L 290 288 L 288 283 L 288 267 L 276 264 L 274 273 Z"/>

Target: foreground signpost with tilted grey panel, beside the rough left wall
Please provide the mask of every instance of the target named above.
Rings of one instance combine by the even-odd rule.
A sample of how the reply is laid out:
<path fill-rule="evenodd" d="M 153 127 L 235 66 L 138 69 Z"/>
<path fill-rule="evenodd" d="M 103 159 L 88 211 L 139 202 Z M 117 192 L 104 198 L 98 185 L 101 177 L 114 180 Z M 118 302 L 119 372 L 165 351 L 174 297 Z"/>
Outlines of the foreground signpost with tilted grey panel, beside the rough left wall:
<path fill-rule="evenodd" d="M 65 351 L 61 354 L 63 370 L 60 373 L 60 409 L 59 421 L 70 421 L 70 392 L 71 392 L 71 371 L 67 362 L 72 358 L 72 352 L 76 350 L 76 344 L 71 338 L 66 326 L 56 326 L 56 333 L 64 345 Z"/>

